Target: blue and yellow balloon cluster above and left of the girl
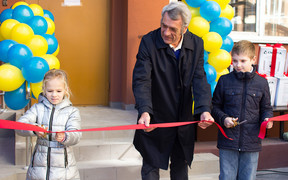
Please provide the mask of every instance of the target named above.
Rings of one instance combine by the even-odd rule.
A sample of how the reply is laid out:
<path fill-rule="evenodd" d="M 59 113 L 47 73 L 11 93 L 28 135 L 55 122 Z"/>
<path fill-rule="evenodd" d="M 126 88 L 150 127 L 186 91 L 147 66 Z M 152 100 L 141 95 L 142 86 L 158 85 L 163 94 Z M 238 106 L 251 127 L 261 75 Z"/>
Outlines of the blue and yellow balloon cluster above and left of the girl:
<path fill-rule="evenodd" d="M 59 44 L 54 36 L 53 14 L 38 4 L 16 2 L 0 14 L 0 90 L 13 110 L 24 108 L 38 98 L 42 80 L 49 69 L 59 69 Z"/>

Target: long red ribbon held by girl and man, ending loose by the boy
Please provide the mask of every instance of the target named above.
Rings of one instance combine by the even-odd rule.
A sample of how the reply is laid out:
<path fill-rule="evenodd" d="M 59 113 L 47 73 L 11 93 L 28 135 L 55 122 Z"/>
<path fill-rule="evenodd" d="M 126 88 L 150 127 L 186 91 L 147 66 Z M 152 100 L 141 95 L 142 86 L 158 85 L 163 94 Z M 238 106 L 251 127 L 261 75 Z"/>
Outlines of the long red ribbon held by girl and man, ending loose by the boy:
<path fill-rule="evenodd" d="M 165 127 L 176 127 L 176 126 L 184 126 L 188 124 L 194 124 L 199 123 L 200 121 L 188 121 L 188 122 L 172 122 L 172 123 L 159 123 L 159 124 L 150 124 L 149 127 L 146 127 L 144 124 L 133 124 L 133 125 L 124 125 L 124 126 L 112 126 L 112 127 L 103 127 L 103 128 L 91 128 L 91 129 L 79 129 L 79 130 L 70 130 L 70 131 L 61 131 L 61 132 L 86 132 L 86 131 L 114 131 L 114 130 L 133 130 L 133 129 L 147 129 L 147 128 L 165 128 Z M 201 121 L 202 122 L 202 121 Z M 210 122 L 210 121 L 206 121 Z M 233 140 L 229 138 L 222 127 L 214 122 L 221 133 L 230 140 Z M 41 127 L 38 127 L 36 125 L 31 125 L 27 123 L 21 123 L 21 122 L 15 122 L 15 121 L 9 121 L 9 120 L 3 120 L 0 119 L 0 129 L 15 129 L 15 130 L 27 130 L 27 131 L 39 131 L 39 132 L 45 132 L 45 133 L 56 133 L 52 131 L 47 131 Z"/>

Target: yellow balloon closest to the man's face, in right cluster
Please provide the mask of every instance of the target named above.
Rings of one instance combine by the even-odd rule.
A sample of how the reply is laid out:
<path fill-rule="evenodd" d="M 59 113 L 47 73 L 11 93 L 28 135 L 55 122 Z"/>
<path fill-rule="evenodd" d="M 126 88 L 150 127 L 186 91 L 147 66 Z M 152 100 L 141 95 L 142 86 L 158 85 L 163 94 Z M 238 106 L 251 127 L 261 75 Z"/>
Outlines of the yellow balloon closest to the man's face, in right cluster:
<path fill-rule="evenodd" d="M 210 24 L 206 19 L 197 16 L 191 19 L 188 29 L 193 34 L 202 37 L 209 32 Z"/>

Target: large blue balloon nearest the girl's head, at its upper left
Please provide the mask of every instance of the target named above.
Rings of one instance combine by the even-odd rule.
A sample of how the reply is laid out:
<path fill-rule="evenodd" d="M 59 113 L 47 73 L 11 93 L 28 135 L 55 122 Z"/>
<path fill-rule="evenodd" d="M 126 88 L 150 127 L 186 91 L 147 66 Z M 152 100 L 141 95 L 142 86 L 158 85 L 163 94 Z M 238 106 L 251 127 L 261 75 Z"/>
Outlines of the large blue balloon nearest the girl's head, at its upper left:
<path fill-rule="evenodd" d="M 30 83 L 42 81 L 47 71 L 49 71 L 49 64 L 45 59 L 37 56 L 30 58 L 22 67 L 23 77 Z"/>

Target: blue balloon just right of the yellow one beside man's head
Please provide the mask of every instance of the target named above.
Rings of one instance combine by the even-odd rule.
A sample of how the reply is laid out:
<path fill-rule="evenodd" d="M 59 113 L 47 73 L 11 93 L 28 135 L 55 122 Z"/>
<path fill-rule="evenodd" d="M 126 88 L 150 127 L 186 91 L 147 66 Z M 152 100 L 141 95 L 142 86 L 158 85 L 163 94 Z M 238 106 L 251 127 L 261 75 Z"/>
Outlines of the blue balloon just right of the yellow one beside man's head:
<path fill-rule="evenodd" d="M 232 31 L 232 23 L 225 17 L 219 17 L 210 23 L 209 31 L 217 32 L 221 37 L 225 37 Z"/>

